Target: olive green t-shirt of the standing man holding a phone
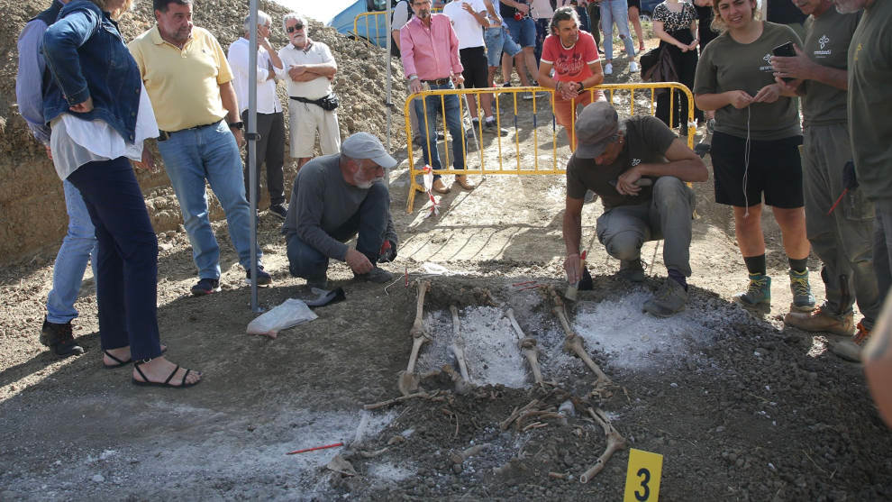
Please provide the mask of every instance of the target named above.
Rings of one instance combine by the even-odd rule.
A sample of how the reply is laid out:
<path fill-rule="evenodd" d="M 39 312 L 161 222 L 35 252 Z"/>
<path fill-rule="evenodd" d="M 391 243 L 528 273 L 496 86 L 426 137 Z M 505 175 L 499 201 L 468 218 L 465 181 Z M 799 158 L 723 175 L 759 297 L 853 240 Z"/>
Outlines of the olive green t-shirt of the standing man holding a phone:
<path fill-rule="evenodd" d="M 820 17 L 806 19 L 806 55 L 817 64 L 829 68 L 845 69 L 851 34 L 858 26 L 861 14 L 840 14 L 833 5 Z M 815 80 L 803 83 L 806 95 L 802 98 L 803 123 L 827 125 L 845 123 L 846 92 Z"/>

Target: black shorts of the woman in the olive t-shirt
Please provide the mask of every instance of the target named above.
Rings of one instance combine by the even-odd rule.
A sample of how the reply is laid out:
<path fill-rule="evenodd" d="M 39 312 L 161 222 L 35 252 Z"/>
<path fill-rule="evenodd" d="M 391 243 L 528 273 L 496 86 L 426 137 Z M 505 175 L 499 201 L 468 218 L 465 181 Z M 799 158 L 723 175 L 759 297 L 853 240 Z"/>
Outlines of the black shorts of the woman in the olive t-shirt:
<path fill-rule="evenodd" d="M 781 140 L 750 141 L 750 166 L 744 163 L 746 139 L 715 132 L 710 156 L 713 160 L 715 202 L 744 207 L 765 204 L 793 208 L 803 206 L 802 136 Z M 743 178 L 746 176 L 746 196 Z"/>

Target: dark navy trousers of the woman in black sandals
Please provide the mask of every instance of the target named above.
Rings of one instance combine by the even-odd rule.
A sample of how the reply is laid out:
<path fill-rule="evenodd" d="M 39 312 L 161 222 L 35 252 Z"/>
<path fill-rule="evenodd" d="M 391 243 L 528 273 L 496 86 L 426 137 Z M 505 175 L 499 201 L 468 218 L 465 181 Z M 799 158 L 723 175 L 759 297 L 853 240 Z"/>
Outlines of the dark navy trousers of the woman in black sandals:
<path fill-rule="evenodd" d="M 104 350 L 158 357 L 158 239 L 130 161 L 88 162 L 68 176 L 96 227 L 96 303 Z"/>

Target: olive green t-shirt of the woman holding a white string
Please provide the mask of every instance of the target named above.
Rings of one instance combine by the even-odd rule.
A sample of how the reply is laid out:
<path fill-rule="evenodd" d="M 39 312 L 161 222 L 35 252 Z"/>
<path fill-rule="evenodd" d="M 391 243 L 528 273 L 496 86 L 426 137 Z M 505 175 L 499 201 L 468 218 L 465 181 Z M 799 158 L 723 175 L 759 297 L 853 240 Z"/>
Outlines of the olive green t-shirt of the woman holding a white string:
<path fill-rule="evenodd" d="M 742 90 L 756 96 L 762 87 L 774 84 L 774 71 L 769 59 L 771 50 L 792 41 L 802 41 L 790 27 L 764 22 L 762 34 L 747 44 L 738 43 L 724 32 L 706 44 L 696 65 L 694 94 L 721 94 Z M 797 136 L 799 114 L 796 102 L 779 97 L 774 103 L 753 103 L 738 110 L 727 105 L 715 111 L 715 131 L 739 138 L 771 141 Z"/>

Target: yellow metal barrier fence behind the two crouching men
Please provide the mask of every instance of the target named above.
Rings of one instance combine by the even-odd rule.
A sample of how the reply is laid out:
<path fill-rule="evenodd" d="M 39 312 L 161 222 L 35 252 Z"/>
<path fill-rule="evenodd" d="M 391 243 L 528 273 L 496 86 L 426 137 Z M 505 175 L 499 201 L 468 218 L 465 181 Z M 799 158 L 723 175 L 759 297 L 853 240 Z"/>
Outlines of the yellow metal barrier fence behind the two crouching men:
<path fill-rule="evenodd" d="M 653 115 L 656 112 L 656 92 L 658 89 L 667 89 L 669 91 L 669 103 L 675 102 L 675 97 L 676 97 L 675 93 L 676 92 L 684 93 L 684 95 L 687 96 L 687 146 L 690 148 L 693 148 L 694 147 L 694 134 L 695 134 L 694 96 L 691 94 L 691 91 L 684 84 L 679 84 L 678 82 L 659 82 L 659 83 L 641 83 L 641 84 L 605 84 L 603 86 L 597 86 L 597 87 L 592 87 L 590 89 L 586 89 L 585 92 L 591 93 L 593 96 L 592 100 L 594 101 L 595 100 L 594 93 L 596 93 L 598 90 L 601 90 L 604 92 L 605 98 L 607 99 L 607 101 L 609 101 L 612 105 L 615 105 L 614 94 L 617 93 L 618 91 L 628 91 L 630 93 L 629 115 L 634 115 L 635 107 L 636 107 L 635 106 L 635 91 L 644 91 L 647 95 L 649 95 L 648 103 L 646 106 L 647 113 Z M 542 94 L 543 91 L 547 92 L 548 96 L 542 96 L 542 97 L 537 96 L 537 94 Z M 474 99 L 478 105 L 478 110 L 480 110 L 481 109 L 480 108 L 480 96 L 485 95 L 485 94 L 492 94 L 496 97 L 495 99 L 492 100 L 493 115 L 496 118 L 495 141 L 490 141 L 489 145 L 482 144 L 482 140 L 484 137 L 483 136 L 483 132 L 484 132 L 484 121 L 483 120 L 478 121 L 476 126 L 471 128 L 474 130 L 473 131 L 474 140 L 472 142 L 476 142 L 478 144 L 478 155 L 475 155 L 475 158 L 479 157 L 480 167 L 479 167 L 479 169 L 469 169 L 468 152 L 469 152 L 470 145 L 468 144 L 469 141 L 467 140 L 466 136 L 469 135 L 470 130 L 465 129 L 465 125 L 464 125 L 466 103 L 468 103 L 467 102 L 468 99 Z M 505 123 L 505 121 L 503 121 L 502 117 L 501 117 L 501 104 L 500 104 L 500 100 L 498 99 L 498 97 L 500 95 L 501 96 L 510 96 L 509 108 L 511 109 L 511 111 L 513 112 L 513 115 L 514 115 L 514 118 L 512 121 L 513 126 L 514 126 L 514 141 L 513 141 L 514 149 L 513 149 L 513 151 L 510 152 L 511 155 L 507 155 L 506 151 L 503 150 L 503 144 L 502 144 L 503 139 L 502 139 L 501 134 L 499 133 L 502 129 L 502 125 Z M 518 123 L 518 117 L 522 116 L 521 114 L 518 113 L 518 111 L 519 111 L 518 105 L 523 106 L 523 101 L 529 100 L 529 97 L 526 97 L 525 99 L 520 100 L 520 103 L 519 103 L 518 96 L 520 96 L 520 95 L 532 96 L 532 100 L 530 100 L 532 103 L 532 109 L 530 109 L 530 110 L 524 109 L 522 112 L 525 114 L 532 115 L 532 124 L 525 124 L 525 125 L 532 125 L 532 131 L 530 131 L 528 129 L 523 129 L 521 127 L 521 125 Z M 439 100 L 437 100 L 435 98 L 435 96 L 440 96 Z M 459 116 L 462 119 L 460 127 L 461 127 L 461 130 L 463 131 L 463 133 L 460 134 L 461 152 L 462 152 L 462 160 L 464 160 L 465 169 L 453 169 L 452 168 L 453 164 L 450 161 L 450 151 L 451 151 L 450 144 L 449 144 L 450 141 L 448 141 L 445 137 L 445 133 L 449 131 L 446 121 L 445 121 L 445 118 L 444 118 L 446 115 L 446 96 L 457 96 L 458 97 Z M 440 89 L 440 90 L 422 91 L 420 93 L 408 96 L 405 99 L 405 105 L 404 105 L 405 137 L 406 138 L 413 137 L 412 129 L 411 129 L 411 125 L 410 125 L 409 114 L 415 113 L 414 112 L 414 100 L 420 99 L 421 106 L 423 107 L 423 119 L 424 120 L 423 120 L 423 123 L 421 123 L 421 121 L 419 121 L 418 127 L 419 127 L 419 129 L 421 129 L 420 132 L 422 132 L 422 134 L 421 134 L 422 141 L 426 141 L 426 143 L 427 143 L 426 146 L 427 146 L 428 150 L 430 151 L 431 147 L 433 146 L 433 143 L 435 143 L 437 141 L 435 141 L 435 140 L 432 141 L 432 139 L 430 137 L 428 137 L 427 134 L 423 133 L 424 131 L 430 130 L 429 123 L 428 123 L 428 116 L 427 116 L 427 111 L 428 111 L 427 107 L 428 107 L 429 101 L 434 101 L 434 102 L 439 101 L 439 105 L 438 105 L 439 109 L 437 110 L 437 112 L 438 112 L 438 114 L 440 114 L 441 118 L 438 119 L 436 125 L 441 126 L 442 131 L 444 132 L 442 151 L 445 153 L 445 155 L 441 156 L 441 165 L 444 167 L 444 169 L 438 169 L 436 171 L 437 174 L 478 174 L 478 175 L 490 175 L 490 174 L 493 174 L 493 175 L 496 175 L 496 174 L 512 174 L 512 175 L 551 174 L 551 175 L 555 175 L 555 174 L 565 174 L 566 169 L 564 166 L 564 160 L 561 160 L 560 163 L 558 162 L 558 133 L 560 132 L 560 130 L 562 128 L 559 129 L 559 125 L 557 124 L 557 122 L 555 120 L 553 96 L 554 96 L 554 90 L 546 89 L 544 87 L 493 87 L 493 88 L 485 88 L 485 89 L 481 89 L 481 88 L 467 89 L 466 88 L 466 89 Z M 544 105 L 542 105 L 542 101 L 545 102 Z M 642 106 L 639 105 L 639 108 L 641 108 L 641 107 Z M 539 115 L 539 112 L 542 111 L 543 108 L 551 110 L 551 116 L 547 117 L 547 119 L 550 120 L 550 122 L 551 122 L 551 141 L 550 141 L 551 149 L 549 150 L 551 153 L 551 155 L 550 155 L 551 160 L 547 162 L 548 165 L 546 165 L 543 168 L 540 168 L 540 165 L 539 165 L 540 135 L 547 136 L 547 132 L 544 132 L 544 133 L 540 132 L 539 123 L 538 123 L 539 122 L 538 115 Z M 571 109 L 573 109 L 573 110 L 576 109 L 575 103 L 573 103 L 571 105 Z M 669 123 L 672 123 L 673 112 L 674 112 L 674 110 L 672 110 L 670 108 Z M 622 114 L 622 111 L 620 111 L 620 113 Z M 478 114 L 478 115 L 483 115 L 483 114 Z M 571 116 L 570 128 L 572 128 L 572 127 L 574 127 L 574 125 L 576 123 L 576 114 L 570 114 L 570 116 Z M 510 134 L 510 132 L 509 132 L 509 134 Z M 532 151 L 533 151 L 532 168 L 524 167 L 521 165 L 521 157 L 522 157 L 522 155 L 521 155 L 521 136 L 524 136 L 524 135 L 532 137 Z M 456 141 L 455 138 L 452 138 L 452 141 Z M 507 140 L 507 141 L 510 141 L 510 140 Z M 526 141 L 523 141 L 523 142 L 525 143 Z M 496 147 L 495 149 L 493 148 L 493 145 L 491 143 L 495 143 L 495 147 Z M 412 211 L 414 209 L 415 194 L 417 192 L 423 192 L 423 187 L 418 184 L 415 177 L 417 175 L 423 174 L 424 160 L 422 157 L 422 159 L 419 160 L 417 163 L 414 161 L 413 146 L 414 145 L 413 145 L 412 141 L 409 141 L 407 150 L 408 150 L 408 158 L 409 158 L 409 180 L 410 180 L 409 183 L 410 183 L 410 186 L 409 186 L 408 200 L 406 200 L 406 212 L 408 212 L 408 213 L 412 213 Z M 439 148 L 439 145 L 437 146 L 437 148 Z M 529 147 L 527 145 L 524 145 L 524 148 L 529 148 Z M 495 152 L 497 154 L 496 155 L 496 160 L 498 162 L 497 168 L 487 166 L 487 155 L 485 155 L 485 150 Z M 516 166 L 510 167 L 510 168 L 505 167 L 505 160 L 510 160 L 511 156 L 514 157 L 514 159 L 515 159 L 514 164 L 516 164 Z M 495 161 L 493 161 L 492 163 L 495 164 Z M 417 165 L 417 167 L 416 167 L 416 165 Z M 446 169 L 447 166 L 448 166 L 448 169 Z"/>

